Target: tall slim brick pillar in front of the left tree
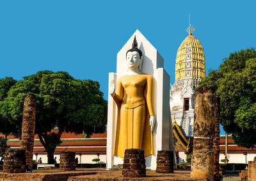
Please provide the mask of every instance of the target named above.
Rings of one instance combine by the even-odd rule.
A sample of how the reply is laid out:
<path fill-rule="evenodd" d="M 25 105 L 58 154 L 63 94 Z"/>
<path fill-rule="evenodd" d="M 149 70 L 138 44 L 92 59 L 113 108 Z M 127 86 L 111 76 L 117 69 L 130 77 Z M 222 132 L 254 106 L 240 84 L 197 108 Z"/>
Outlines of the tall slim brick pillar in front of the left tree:
<path fill-rule="evenodd" d="M 26 150 L 26 164 L 33 166 L 33 147 L 36 123 L 36 96 L 29 93 L 24 101 L 20 148 Z"/>

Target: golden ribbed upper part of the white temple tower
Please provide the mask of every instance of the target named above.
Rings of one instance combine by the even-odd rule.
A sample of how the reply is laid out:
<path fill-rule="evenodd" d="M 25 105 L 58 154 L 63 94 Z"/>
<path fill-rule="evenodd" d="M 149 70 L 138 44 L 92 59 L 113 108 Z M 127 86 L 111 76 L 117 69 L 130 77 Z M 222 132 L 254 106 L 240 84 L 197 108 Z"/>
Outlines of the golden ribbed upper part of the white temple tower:
<path fill-rule="evenodd" d="M 191 24 L 186 31 L 189 35 L 177 51 L 175 81 L 184 77 L 205 77 L 204 49 L 199 40 L 192 35 L 195 28 L 191 27 Z"/>

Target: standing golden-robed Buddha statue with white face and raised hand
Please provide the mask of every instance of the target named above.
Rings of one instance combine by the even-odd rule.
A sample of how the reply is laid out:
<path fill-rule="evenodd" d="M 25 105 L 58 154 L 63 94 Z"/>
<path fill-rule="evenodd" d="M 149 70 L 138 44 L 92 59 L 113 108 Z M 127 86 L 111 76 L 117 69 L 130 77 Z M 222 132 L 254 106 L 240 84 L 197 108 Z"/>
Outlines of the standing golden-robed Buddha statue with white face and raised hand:
<path fill-rule="evenodd" d="M 141 72 L 143 56 L 136 37 L 126 53 L 127 74 L 111 83 L 110 93 L 118 107 L 114 155 L 124 157 L 125 149 L 140 148 L 145 157 L 154 154 L 152 132 L 156 122 L 152 95 L 154 77 Z"/>

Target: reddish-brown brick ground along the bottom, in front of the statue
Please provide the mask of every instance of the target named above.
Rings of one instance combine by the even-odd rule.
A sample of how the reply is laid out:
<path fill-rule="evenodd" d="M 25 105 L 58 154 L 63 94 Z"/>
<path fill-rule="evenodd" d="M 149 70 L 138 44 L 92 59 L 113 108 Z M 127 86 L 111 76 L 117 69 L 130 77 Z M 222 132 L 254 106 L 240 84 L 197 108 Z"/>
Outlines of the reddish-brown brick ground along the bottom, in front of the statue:
<path fill-rule="evenodd" d="M 15 180 L 15 181 L 87 181 L 87 180 L 201 180 L 204 178 L 192 179 L 190 178 L 190 171 L 174 170 L 174 173 L 156 173 L 156 171 L 147 171 L 147 177 L 141 178 L 124 178 L 122 177 L 122 170 L 106 170 L 104 168 L 77 168 L 76 171 L 59 171 L 58 169 L 39 169 L 33 173 L 3 173 L 0 171 L 0 181 Z"/>

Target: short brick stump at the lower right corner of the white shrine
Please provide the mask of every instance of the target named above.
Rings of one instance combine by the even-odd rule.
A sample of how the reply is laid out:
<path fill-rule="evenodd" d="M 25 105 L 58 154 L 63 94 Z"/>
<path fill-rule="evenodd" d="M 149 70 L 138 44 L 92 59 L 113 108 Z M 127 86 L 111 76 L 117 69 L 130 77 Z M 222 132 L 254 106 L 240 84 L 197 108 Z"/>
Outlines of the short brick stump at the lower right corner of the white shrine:
<path fill-rule="evenodd" d="M 170 150 L 157 151 L 157 173 L 173 173 L 173 152 Z"/>

